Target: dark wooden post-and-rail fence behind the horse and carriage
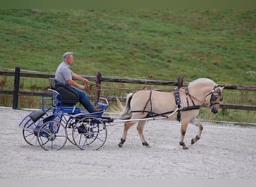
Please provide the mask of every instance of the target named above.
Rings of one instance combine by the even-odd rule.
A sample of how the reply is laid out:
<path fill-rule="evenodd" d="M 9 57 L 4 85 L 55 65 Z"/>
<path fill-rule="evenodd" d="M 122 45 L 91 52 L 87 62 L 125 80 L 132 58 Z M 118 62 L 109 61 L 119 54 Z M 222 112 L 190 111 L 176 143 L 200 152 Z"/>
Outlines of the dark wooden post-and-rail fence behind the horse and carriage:
<path fill-rule="evenodd" d="M 19 91 L 19 78 L 28 77 L 28 78 L 42 78 L 49 79 L 54 77 L 52 74 L 42 74 L 42 73 L 22 73 L 20 68 L 16 67 L 15 72 L 6 72 L 0 71 L 0 76 L 14 76 L 14 85 L 13 91 L 2 91 L 0 94 L 9 94 L 13 95 L 13 109 L 16 109 L 19 102 L 19 96 L 41 96 L 42 93 L 38 92 L 28 92 L 28 91 Z M 115 83 L 129 83 L 129 84 L 140 84 L 140 85 L 166 85 L 166 86 L 176 86 L 181 88 L 188 85 L 188 82 L 183 82 L 183 77 L 180 76 L 177 79 L 177 82 L 169 81 L 156 81 L 156 80 L 146 80 L 146 79 L 122 79 L 122 78 L 112 78 L 112 77 L 103 77 L 100 72 L 96 76 L 84 76 L 85 79 L 88 79 L 91 82 L 96 82 L 96 91 L 95 96 L 88 96 L 89 99 L 94 99 L 94 102 L 98 102 L 101 92 L 101 83 L 102 82 L 115 82 Z M 228 90 L 240 90 L 240 91 L 256 91 L 256 86 L 243 86 L 243 85 L 222 85 L 225 86 L 225 89 Z M 115 96 L 106 96 L 110 101 L 115 101 Z M 125 101 L 126 98 L 118 97 L 121 101 Z M 239 109 L 239 110 L 251 110 L 256 111 L 256 106 L 253 105 L 220 105 L 220 108 L 225 109 Z"/>

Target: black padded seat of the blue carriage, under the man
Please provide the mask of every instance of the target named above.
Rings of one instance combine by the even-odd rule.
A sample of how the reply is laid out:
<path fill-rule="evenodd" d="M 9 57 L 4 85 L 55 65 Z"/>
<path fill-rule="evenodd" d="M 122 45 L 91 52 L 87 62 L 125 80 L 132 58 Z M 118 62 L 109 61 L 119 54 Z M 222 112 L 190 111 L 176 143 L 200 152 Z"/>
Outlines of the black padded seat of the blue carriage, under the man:
<path fill-rule="evenodd" d="M 62 106 L 73 106 L 79 102 L 79 94 L 72 88 L 57 82 L 54 78 L 49 78 L 49 82 L 51 88 L 60 93 Z"/>

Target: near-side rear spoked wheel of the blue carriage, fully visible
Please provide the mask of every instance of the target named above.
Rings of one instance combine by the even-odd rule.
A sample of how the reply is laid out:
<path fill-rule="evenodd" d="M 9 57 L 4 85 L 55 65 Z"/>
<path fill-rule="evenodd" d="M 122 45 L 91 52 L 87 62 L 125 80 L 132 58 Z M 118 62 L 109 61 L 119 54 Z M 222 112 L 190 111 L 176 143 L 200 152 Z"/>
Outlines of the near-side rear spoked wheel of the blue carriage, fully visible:
<path fill-rule="evenodd" d="M 38 129 L 37 141 L 44 150 L 60 150 L 67 142 L 67 130 L 62 123 L 49 120 Z"/>

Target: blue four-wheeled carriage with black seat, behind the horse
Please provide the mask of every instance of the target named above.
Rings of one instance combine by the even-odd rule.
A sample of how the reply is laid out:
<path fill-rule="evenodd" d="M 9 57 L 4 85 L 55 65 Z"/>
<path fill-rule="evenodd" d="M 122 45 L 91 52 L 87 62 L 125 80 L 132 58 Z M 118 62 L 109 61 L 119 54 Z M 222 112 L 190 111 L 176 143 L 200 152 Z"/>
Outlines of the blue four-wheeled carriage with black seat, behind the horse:
<path fill-rule="evenodd" d="M 103 113 L 108 100 L 100 97 L 97 107 L 102 111 L 86 113 L 76 106 L 79 96 L 75 91 L 55 84 L 54 79 L 50 83 L 51 89 L 42 93 L 42 109 L 32 111 L 19 123 L 25 141 L 44 150 L 60 150 L 67 141 L 81 150 L 100 149 L 107 138 L 106 122 L 110 118 Z"/>

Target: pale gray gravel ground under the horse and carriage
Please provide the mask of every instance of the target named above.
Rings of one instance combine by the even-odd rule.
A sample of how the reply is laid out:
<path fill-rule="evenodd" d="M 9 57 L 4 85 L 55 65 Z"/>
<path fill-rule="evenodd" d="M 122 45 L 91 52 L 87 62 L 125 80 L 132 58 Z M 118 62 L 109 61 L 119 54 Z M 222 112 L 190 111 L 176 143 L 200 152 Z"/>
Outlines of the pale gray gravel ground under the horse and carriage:
<path fill-rule="evenodd" d="M 79 150 L 67 141 L 61 150 L 45 151 L 28 145 L 18 127 L 30 112 L 0 108 L 1 179 L 256 179 L 256 126 L 203 122 L 201 139 L 190 145 L 198 128 L 189 125 L 189 150 L 183 150 L 177 121 L 149 121 L 149 148 L 141 145 L 135 126 L 119 148 L 124 125 L 116 124 L 107 126 L 100 150 Z"/>

